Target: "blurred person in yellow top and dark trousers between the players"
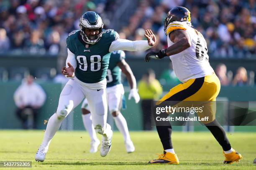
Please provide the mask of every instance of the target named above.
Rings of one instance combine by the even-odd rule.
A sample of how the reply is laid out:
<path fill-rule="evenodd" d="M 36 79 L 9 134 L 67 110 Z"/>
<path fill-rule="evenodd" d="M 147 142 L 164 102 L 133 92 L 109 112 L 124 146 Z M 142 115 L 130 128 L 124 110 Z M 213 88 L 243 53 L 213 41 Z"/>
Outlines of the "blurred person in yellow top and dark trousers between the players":
<path fill-rule="evenodd" d="M 159 100 L 162 92 L 162 87 L 156 80 L 154 71 L 148 70 L 138 82 L 138 93 L 141 97 L 141 110 L 143 112 L 143 130 L 152 130 L 151 107 L 154 107 L 154 100 Z"/>

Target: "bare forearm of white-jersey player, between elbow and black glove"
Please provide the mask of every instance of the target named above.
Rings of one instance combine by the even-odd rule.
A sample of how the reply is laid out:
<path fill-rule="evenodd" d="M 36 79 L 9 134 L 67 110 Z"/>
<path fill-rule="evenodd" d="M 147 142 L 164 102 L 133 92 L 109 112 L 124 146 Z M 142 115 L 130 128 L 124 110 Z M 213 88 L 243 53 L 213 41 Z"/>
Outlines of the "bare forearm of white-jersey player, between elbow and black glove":
<path fill-rule="evenodd" d="M 182 52 L 189 47 L 191 47 L 191 44 L 189 43 L 186 37 L 183 37 L 166 49 L 166 55 L 170 56 L 178 54 L 179 52 Z"/>

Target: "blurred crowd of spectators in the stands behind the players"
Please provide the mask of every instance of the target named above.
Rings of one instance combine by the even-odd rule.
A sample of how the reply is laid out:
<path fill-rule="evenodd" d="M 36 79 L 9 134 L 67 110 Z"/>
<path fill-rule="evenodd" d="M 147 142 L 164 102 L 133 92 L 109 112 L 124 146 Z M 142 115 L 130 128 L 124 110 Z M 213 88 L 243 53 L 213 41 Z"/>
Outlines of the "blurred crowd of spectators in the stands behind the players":
<path fill-rule="evenodd" d="M 125 2 L 125 1 L 124 1 Z M 78 30 L 84 11 L 94 10 L 105 28 L 121 38 L 143 39 L 144 29 L 158 36 L 155 48 L 166 47 L 163 20 L 175 6 L 187 7 L 192 25 L 207 40 L 211 57 L 252 57 L 256 50 L 255 0 L 131 0 L 136 8 L 124 17 L 125 25 L 113 20 L 120 0 L 0 0 L 0 52 L 57 55 L 66 51 L 69 32 Z M 128 4 L 129 5 L 129 4 Z M 123 23 L 122 22 L 122 23 Z M 141 55 L 141 53 L 132 53 Z"/>

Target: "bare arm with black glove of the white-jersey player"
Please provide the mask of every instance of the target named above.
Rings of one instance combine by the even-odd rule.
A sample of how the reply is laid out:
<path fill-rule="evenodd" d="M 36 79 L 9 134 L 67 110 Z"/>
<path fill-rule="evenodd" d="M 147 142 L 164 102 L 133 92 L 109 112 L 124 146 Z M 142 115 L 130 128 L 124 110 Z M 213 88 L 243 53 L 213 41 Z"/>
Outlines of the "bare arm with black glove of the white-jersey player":
<path fill-rule="evenodd" d="M 174 42 L 173 45 L 163 50 L 148 52 L 145 61 L 148 62 L 150 58 L 161 59 L 166 56 L 178 54 L 191 47 L 191 39 L 185 30 L 175 30 L 169 34 L 169 38 Z"/>

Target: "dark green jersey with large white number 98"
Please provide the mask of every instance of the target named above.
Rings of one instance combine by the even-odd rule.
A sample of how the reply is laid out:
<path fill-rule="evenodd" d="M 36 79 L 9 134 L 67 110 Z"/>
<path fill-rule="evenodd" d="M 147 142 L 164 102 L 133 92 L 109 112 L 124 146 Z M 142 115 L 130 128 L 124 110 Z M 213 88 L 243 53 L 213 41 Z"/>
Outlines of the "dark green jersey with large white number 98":
<path fill-rule="evenodd" d="M 95 44 L 86 44 L 80 30 L 69 33 L 67 47 L 75 54 L 77 68 L 75 76 L 82 82 L 95 83 L 104 80 L 110 59 L 109 47 L 119 38 L 114 30 L 103 30 L 101 39 Z"/>

